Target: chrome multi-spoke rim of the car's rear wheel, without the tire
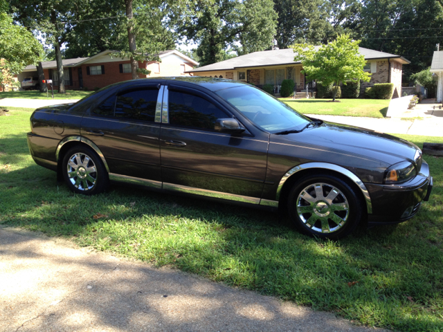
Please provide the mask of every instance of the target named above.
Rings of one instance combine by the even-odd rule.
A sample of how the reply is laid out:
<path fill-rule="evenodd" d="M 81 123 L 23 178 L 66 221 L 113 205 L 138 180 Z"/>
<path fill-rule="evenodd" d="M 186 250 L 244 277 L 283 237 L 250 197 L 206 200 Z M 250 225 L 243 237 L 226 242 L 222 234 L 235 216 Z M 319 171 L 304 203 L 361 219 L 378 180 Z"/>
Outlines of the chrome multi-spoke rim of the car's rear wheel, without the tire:
<path fill-rule="evenodd" d="M 82 153 L 73 154 L 67 167 L 69 181 L 78 190 L 91 190 L 96 185 L 97 170 L 91 157 Z"/>

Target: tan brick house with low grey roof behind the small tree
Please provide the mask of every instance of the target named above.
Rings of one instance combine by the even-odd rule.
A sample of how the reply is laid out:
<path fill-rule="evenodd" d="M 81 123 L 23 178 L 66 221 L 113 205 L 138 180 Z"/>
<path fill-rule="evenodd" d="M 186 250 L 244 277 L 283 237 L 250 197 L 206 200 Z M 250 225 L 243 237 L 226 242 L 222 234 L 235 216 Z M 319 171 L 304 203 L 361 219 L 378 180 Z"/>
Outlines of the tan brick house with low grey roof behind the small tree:
<path fill-rule="evenodd" d="M 319 46 L 316 46 L 319 47 Z M 392 98 L 398 98 L 401 93 L 401 74 L 403 65 L 410 61 L 390 53 L 359 48 L 359 53 L 367 61 L 365 71 L 372 73 L 370 82 L 362 82 L 364 90 L 376 83 L 393 83 L 395 91 Z M 232 59 L 194 68 L 188 71 L 194 75 L 209 77 L 224 77 L 262 86 L 263 84 L 281 85 L 282 80 L 290 79 L 296 83 L 297 91 L 305 89 L 305 75 L 301 73 L 302 65 L 293 60 L 292 48 L 282 50 L 264 50 L 249 53 Z"/>

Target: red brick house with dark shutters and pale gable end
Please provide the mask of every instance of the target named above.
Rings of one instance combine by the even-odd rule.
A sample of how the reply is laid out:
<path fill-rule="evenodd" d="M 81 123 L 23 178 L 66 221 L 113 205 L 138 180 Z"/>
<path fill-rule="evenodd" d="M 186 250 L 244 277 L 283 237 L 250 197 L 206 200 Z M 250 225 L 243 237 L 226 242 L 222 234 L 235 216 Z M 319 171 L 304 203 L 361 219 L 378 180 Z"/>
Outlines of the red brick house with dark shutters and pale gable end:
<path fill-rule="evenodd" d="M 116 51 L 105 50 L 92 57 L 64 59 L 62 64 L 66 89 L 91 90 L 116 82 L 132 80 L 129 58 L 111 57 L 111 53 L 116 53 Z M 139 68 L 151 71 L 150 75 L 139 74 L 139 77 L 192 75 L 187 72 L 199 64 L 178 50 L 164 50 L 158 56 L 161 62 L 138 62 Z M 42 66 L 46 80 L 53 80 L 53 86 L 58 86 L 57 62 L 42 62 Z M 26 66 L 18 75 L 19 82 L 28 76 L 37 76 L 36 66 Z"/>

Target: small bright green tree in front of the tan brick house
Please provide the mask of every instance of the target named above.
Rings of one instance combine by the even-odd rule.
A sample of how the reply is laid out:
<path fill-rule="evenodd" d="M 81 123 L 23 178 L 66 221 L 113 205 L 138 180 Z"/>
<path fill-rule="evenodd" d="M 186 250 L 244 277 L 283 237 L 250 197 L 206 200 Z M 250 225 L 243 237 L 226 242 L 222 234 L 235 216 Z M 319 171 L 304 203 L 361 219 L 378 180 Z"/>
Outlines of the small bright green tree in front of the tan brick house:
<path fill-rule="evenodd" d="M 294 61 L 300 61 L 302 73 L 308 80 L 316 80 L 323 85 L 334 84 L 332 100 L 335 101 L 341 83 L 363 80 L 370 81 L 370 73 L 363 71 L 364 55 L 359 54 L 360 41 L 352 41 L 349 35 L 340 35 L 334 42 L 322 45 L 318 50 L 307 44 L 296 44 L 293 50 Z"/>

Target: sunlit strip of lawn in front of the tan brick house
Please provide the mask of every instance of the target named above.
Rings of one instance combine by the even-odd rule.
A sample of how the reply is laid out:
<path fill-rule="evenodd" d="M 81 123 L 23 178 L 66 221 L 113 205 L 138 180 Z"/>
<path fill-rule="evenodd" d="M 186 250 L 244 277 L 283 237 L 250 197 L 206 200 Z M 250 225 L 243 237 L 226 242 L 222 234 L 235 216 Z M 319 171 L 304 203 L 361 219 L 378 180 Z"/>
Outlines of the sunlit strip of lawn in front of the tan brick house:
<path fill-rule="evenodd" d="M 340 102 L 329 102 L 326 99 L 279 99 L 303 114 L 366 116 L 368 118 L 384 118 L 390 102 L 390 100 L 376 99 L 339 99 Z"/>

